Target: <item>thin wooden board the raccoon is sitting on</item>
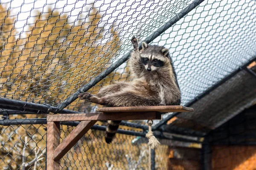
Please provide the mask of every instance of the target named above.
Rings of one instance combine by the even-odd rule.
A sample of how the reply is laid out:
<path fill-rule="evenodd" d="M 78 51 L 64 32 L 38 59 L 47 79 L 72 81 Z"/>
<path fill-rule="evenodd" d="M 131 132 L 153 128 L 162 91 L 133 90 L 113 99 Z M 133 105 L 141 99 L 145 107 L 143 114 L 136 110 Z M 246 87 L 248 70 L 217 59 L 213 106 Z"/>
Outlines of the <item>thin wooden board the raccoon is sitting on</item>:
<path fill-rule="evenodd" d="M 98 112 L 193 112 L 193 108 L 185 106 L 138 106 L 138 107 L 102 107 Z"/>

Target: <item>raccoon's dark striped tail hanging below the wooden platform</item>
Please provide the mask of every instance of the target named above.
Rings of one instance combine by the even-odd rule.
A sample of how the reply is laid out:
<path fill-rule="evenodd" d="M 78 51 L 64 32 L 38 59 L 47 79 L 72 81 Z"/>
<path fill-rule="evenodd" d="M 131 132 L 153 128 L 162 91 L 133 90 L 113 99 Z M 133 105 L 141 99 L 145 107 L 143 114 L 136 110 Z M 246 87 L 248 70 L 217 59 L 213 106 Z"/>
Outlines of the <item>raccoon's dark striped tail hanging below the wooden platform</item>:
<path fill-rule="evenodd" d="M 108 126 L 105 133 L 105 141 L 110 144 L 116 135 L 117 129 L 121 121 L 108 121 Z"/>

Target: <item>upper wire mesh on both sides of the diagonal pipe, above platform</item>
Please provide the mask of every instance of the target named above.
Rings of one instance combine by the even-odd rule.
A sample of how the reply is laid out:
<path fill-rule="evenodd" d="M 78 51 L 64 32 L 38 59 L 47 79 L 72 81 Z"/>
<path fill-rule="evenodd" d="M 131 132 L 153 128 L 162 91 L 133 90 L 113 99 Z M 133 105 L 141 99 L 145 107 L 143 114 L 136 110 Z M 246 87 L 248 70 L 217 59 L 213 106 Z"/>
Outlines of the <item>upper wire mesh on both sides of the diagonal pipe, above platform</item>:
<path fill-rule="evenodd" d="M 190 3 L 3 0 L 0 96 L 57 106 L 127 53 L 131 35 L 144 40 Z M 255 55 L 255 8 L 253 0 L 204 1 L 153 40 L 171 51 L 183 104 Z M 126 63 L 88 92 L 120 80 L 130 80 Z"/>

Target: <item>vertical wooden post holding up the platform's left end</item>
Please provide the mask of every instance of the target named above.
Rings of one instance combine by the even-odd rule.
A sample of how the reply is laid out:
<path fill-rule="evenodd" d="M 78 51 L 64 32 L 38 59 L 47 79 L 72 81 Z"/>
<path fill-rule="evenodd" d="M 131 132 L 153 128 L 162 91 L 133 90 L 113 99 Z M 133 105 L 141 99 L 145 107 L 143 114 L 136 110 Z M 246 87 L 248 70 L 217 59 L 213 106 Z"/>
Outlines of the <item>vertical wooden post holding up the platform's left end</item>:
<path fill-rule="evenodd" d="M 47 170 L 59 170 L 59 161 L 53 160 L 53 152 L 60 144 L 60 123 L 47 122 Z"/>

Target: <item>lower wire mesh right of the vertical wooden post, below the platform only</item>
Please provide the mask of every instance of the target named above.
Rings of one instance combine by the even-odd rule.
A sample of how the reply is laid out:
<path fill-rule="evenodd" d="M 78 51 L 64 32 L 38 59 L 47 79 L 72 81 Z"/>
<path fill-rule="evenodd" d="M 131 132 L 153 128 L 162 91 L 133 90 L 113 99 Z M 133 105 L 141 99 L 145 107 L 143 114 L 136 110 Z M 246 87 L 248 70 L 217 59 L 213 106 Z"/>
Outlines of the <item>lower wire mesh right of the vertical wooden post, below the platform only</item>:
<path fill-rule="evenodd" d="M 73 127 L 62 127 L 63 137 L 69 134 Z M 120 127 L 126 129 L 127 127 Z M 128 128 L 136 130 L 134 128 Z M 141 131 L 141 130 L 139 130 Z M 144 170 L 148 167 L 148 145 L 137 142 L 137 136 L 117 134 L 113 144 L 105 143 L 105 132 L 89 130 L 88 133 L 61 159 L 62 169 L 87 167 L 88 169 L 113 170 Z M 166 169 L 168 155 L 167 146 L 163 145 L 156 150 L 156 169 Z M 164 151 L 163 151 L 164 150 Z"/>

